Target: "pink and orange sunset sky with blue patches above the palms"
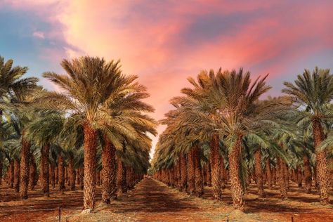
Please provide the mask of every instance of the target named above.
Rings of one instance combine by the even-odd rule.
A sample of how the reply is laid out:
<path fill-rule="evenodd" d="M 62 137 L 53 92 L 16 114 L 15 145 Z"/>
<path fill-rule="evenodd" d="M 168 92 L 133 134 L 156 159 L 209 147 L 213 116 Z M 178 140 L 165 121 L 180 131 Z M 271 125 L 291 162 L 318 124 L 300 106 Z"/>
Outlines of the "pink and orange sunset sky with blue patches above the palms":
<path fill-rule="evenodd" d="M 272 96 L 305 68 L 333 70 L 332 8 L 320 0 L 0 0 L 0 55 L 40 78 L 64 74 L 63 58 L 120 59 L 123 72 L 148 87 L 152 117 L 162 119 L 201 70 L 269 73 Z"/>

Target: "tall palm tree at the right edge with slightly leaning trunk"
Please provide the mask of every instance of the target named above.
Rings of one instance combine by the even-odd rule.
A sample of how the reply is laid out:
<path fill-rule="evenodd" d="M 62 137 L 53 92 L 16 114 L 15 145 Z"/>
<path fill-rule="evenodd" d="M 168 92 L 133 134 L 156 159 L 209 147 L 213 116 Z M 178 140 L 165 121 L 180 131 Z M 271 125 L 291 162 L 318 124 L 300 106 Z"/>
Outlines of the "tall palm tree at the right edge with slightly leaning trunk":
<path fill-rule="evenodd" d="M 326 150 L 320 149 L 320 143 L 325 139 L 323 125 L 332 119 L 329 103 L 333 98 L 333 75 L 329 70 L 315 67 L 312 74 L 304 70 L 299 74 L 294 84 L 284 83 L 286 88 L 282 92 L 289 94 L 297 105 L 300 105 L 307 114 L 303 122 L 311 123 L 313 129 L 313 144 L 316 155 L 316 170 L 320 185 L 320 202 L 329 203 L 329 172 L 327 167 Z"/>

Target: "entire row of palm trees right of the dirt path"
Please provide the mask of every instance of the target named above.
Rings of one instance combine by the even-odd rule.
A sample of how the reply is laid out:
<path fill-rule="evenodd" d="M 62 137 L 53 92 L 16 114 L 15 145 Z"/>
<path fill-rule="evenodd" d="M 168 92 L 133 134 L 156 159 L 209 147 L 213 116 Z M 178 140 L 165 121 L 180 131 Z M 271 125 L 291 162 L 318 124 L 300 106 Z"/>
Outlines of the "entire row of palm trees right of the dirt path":
<path fill-rule="evenodd" d="M 290 177 L 299 185 L 304 179 L 307 192 L 314 178 L 320 202 L 328 204 L 333 75 L 318 67 L 305 70 L 294 83 L 284 83 L 285 96 L 263 100 L 267 77 L 252 81 L 242 69 L 202 71 L 197 81 L 189 77 L 192 87 L 170 100 L 174 110 L 160 121 L 166 129 L 150 173 L 199 197 L 211 185 L 216 200 L 229 181 L 233 206 L 240 210 L 251 178 L 261 197 L 264 182 L 272 188 L 278 181 L 282 199 Z"/>

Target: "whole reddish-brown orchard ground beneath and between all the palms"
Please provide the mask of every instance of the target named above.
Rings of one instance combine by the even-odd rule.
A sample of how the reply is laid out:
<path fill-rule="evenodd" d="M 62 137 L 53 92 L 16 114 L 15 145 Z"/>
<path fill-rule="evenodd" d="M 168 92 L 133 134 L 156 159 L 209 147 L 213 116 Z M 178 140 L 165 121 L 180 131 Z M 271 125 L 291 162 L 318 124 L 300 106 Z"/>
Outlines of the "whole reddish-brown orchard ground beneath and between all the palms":
<path fill-rule="evenodd" d="M 6 183 L 4 183 L 6 184 Z M 278 188 L 265 190 L 266 199 L 258 198 L 255 184 L 245 195 L 245 214 L 233 211 L 230 192 L 223 190 L 223 201 L 211 200 L 211 188 L 202 198 L 192 197 L 152 178 L 145 178 L 134 190 L 110 205 L 100 203 L 96 195 L 96 213 L 81 214 L 82 192 L 51 189 L 51 197 L 42 197 L 41 188 L 30 191 L 28 200 L 20 200 L 13 189 L 0 190 L 0 221 L 333 221 L 333 202 L 323 207 L 318 193 L 306 194 L 292 183 L 289 199 L 280 200 Z"/>

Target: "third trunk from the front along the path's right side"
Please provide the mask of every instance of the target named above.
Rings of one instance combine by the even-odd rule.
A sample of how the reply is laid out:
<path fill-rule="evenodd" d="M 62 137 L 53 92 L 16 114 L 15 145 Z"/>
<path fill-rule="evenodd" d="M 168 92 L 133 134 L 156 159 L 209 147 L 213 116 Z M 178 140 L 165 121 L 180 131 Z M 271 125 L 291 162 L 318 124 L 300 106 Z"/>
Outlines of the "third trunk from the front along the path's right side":
<path fill-rule="evenodd" d="M 195 145 L 192 150 L 195 164 L 195 195 L 197 197 L 201 197 L 204 194 L 204 183 L 202 179 L 202 169 L 200 162 L 200 148 L 198 145 Z"/>

